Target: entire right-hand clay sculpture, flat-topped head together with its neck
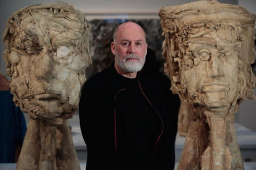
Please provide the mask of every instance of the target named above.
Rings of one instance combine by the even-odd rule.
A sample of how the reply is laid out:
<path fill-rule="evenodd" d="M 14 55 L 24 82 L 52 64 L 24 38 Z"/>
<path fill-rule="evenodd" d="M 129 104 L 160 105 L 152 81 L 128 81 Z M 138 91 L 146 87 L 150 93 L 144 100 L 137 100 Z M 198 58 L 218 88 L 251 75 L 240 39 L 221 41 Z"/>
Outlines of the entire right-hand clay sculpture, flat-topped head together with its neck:
<path fill-rule="evenodd" d="M 178 169 L 244 169 L 234 115 L 254 99 L 255 15 L 197 1 L 159 11 L 171 90 L 193 105 Z"/>

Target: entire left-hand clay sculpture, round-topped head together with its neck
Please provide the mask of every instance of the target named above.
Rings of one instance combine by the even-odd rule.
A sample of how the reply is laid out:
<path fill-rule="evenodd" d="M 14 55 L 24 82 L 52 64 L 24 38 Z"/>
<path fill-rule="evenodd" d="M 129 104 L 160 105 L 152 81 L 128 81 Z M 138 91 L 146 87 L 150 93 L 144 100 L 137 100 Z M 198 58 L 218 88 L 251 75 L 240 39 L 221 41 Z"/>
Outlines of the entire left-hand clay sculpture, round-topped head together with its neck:
<path fill-rule="evenodd" d="M 88 34 L 82 12 L 62 2 L 26 6 L 7 21 L 9 86 L 30 116 L 17 170 L 80 169 L 67 119 L 91 64 Z"/>

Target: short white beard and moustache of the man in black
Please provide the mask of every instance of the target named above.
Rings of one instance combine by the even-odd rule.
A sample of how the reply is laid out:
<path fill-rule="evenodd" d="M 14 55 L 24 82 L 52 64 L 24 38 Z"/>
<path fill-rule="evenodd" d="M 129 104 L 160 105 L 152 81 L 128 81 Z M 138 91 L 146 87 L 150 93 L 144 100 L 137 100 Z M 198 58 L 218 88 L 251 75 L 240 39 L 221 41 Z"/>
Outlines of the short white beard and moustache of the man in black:
<path fill-rule="evenodd" d="M 127 59 L 138 59 L 138 61 L 129 61 Z M 117 65 L 125 72 L 138 72 L 144 66 L 146 54 L 143 58 L 139 58 L 136 54 L 126 55 L 123 59 L 120 59 L 119 53 L 116 51 L 115 60 Z"/>

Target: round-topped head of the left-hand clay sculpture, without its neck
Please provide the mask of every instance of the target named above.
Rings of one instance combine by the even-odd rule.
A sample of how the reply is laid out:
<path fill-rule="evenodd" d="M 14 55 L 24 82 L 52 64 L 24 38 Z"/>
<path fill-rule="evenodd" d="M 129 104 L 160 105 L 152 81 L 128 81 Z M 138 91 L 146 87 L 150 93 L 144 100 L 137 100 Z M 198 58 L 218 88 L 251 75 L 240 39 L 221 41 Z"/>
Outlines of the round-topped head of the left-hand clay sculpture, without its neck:
<path fill-rule="evenodd" d="M 82 12 L 66 3 L 31 5 L 11 15 L 4 59 L 21 110 L 49 119 L 74 113 L 91 63 L 88 31 Z"/>

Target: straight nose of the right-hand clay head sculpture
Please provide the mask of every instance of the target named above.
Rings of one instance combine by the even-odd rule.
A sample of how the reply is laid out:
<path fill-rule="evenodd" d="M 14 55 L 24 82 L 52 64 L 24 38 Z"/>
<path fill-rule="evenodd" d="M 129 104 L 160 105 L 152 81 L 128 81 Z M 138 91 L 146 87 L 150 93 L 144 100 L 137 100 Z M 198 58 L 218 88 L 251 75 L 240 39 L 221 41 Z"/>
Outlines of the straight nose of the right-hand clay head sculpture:
<path fill-rule="evenodd" d="M 209 77 L 219 77 L 223 75 L 223 63 L 220 61 L 219 53 L 211 55 L 206 70 Z"/>

